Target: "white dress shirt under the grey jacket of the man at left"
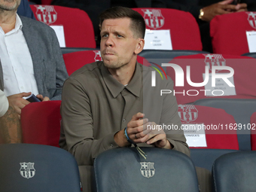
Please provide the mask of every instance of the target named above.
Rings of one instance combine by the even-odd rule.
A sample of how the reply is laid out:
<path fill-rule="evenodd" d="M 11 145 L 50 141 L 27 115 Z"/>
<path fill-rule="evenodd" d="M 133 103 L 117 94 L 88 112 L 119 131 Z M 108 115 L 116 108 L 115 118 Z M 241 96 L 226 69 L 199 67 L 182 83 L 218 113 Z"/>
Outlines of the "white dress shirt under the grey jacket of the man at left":
<path fill-rule="evenodd" d="M 4 92 L 11 96 L 22 92 L 38 94 L 32 58 L 16 15 L 15 28 L 5 34 L 0 27 L 0 59 L 4 75 Z"/>

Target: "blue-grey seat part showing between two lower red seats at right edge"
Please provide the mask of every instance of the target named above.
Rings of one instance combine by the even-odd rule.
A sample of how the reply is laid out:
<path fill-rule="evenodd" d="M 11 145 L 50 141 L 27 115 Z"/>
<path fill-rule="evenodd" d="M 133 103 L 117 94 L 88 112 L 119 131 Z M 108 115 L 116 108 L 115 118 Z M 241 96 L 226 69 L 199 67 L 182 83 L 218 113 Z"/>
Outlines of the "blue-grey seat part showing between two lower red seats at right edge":
<path fill-rule="evenodd" d="M 256 99 L 200 99 L 194 105 L 222 108 L 236 120 L 239 150 L 251 150 L 250 117 L 256 111 Z M 233 126 L 235 128 L 235 126 Z"/>

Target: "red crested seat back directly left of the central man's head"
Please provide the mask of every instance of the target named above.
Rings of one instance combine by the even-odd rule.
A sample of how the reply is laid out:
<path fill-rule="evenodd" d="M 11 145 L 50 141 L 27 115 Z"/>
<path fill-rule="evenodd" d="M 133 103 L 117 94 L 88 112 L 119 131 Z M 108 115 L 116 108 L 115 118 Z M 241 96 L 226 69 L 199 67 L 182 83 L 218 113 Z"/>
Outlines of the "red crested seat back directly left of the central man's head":
<path fill-rule="evenodd" d="M 63 26 L 66 47 L 96 47 L 93 23 L 78 8 L 56 5 L 30 5 L 35 18 L 50 26 Z"/>

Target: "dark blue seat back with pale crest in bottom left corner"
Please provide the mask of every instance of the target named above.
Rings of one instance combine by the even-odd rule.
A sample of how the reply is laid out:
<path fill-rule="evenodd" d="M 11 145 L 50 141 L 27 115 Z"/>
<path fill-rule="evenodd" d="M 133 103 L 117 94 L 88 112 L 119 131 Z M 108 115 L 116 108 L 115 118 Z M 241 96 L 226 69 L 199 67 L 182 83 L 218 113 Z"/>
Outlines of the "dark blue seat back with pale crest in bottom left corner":
<path fill-rule="evenodd" d="M 3 144 L 0 157 L 0 191 L 81 191 L 78 164 L 63 149 Z"/>

